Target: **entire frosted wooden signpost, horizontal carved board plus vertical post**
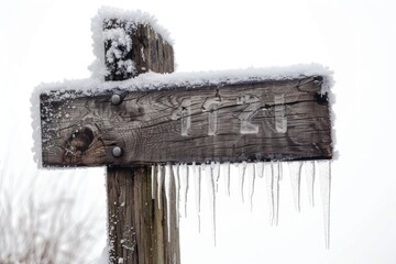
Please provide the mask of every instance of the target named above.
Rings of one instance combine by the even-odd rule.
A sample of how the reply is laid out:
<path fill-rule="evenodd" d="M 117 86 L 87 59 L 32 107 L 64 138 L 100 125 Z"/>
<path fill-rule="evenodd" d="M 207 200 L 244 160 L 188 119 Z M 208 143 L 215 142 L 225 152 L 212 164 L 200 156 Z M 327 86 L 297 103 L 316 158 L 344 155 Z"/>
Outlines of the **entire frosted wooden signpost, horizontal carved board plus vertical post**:
<path fill-rule="evenodd" d="M 180 263 L 169 163 L 332 158 L 323 70 L 129 86 L 141 74 L 174 70 L 172 43 L 157 32 L 165 31 L 141 12 L 101 9 L 92 22 L 96 74 L 112 82 L 41 92 L 41 151 L 46 167 L 107 166 L 109 263 Z M 158 163 L 168 163 L 166 179 L 148 166 Z M 273 177 L 275 208 L 279 177 Z M 329 174 L 323 183 L 330 186 Z"/>

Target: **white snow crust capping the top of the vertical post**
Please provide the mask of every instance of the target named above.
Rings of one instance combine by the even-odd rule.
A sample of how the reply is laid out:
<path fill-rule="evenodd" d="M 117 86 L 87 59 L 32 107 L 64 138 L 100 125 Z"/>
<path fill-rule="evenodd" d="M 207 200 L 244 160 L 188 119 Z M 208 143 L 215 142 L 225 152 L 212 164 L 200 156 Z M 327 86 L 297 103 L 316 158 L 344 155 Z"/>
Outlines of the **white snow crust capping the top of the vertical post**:
<path fill-rule="evenodd" d="M 89 66 L 89 69 L 91 70 L 94 78 L 103 79 L 103 77 L 108 73 L 108 69 L 105 67 L 106 59 L 109 59 L 109 54 L 105 53 L 103 43 L 106 40 L 111 38 L 112 41 L 114 41 L 114 38 L 117 38 L 117 41 L 120 41 L 119 44 L 131 46 L 131 42 L 130 42 L 131 40 L 124 37 L 125 36 L 125 32 L 123 32 L 124 29 L 103 31 L 103 23 L 112 19 L 117 19 L 120 21 L 128 21 L 129 28 L 135 28 L 138 24 L 150 25 L 157 34 L 160 34 L 163 37 L 165 42 L 169 43 L 170 45 L 173 44 L 173 40 L 170 38 L 168 31 L 163 26 L 161 26 L 157 23 L 157 20 L 153 15 L 146 12 L 142 12 L 140 10 L 125 11 L 116 8 L 102 7 L 101 9 L 99 9 L 97 15 L 94 16 L 91 21 L 91 31 L 94 38 L 92 47 L 94 47 L 94 54 L 96 56 L 96 61 Z M 117 56 L 117 51 L 116 51 L 116 56 Z M 132 62 L 124 62 L 124 64 L 127 64 L 125 70 L 129 72 L 134 70 L 134 65 Z"/>

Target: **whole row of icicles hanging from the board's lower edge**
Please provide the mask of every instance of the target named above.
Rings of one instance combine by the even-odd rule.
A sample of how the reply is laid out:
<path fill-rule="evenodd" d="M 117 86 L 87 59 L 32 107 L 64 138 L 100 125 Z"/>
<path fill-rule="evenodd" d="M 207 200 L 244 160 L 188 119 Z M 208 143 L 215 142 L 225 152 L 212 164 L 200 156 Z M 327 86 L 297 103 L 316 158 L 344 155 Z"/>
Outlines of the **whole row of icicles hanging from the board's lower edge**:
<path fill-rule="evenodd" d="M 326 249 L 329 249 L 329 223 L 330 223 L 330 180 L 331 180 L 331 161 L 306 161 L 306 162 L 256 162 L 256 163 L 234 163 L 232 166 L 239 169 L 239 189 L 241 190 L 242 200 L 244 200 L 243 186 L 245 182 L 245 174 L 248 166 L 252 166 L 250 172 L 253 172 L 253 177 L 249 183 L 249 200 L 252 208 L 252 198 L 254 193 L 255 177 L 265 178 L 267 199 L 270 204 L 270 223 L 277 226 L 278 223 L 278 205 L 279 205 L 279 180 L 283 178 L 283 166 L 287 164 L 289 167 L 289 176 L 292 183 L 292 190 L 296 210 L 300 210 L 300 180 L 301 175 L 305 174 L 307 182 L 307 190 L 309 196 L 309 204 L 314 206 L 314 183 L 319 179 L 320 194 L 323 208 L 324 218 L 324 241 Z M 218 183 L 220 177 L 224 179 L 227 194 L 230 195 L 230 163 L 210 163 L 197 165 L 176 164 L 170 163 L 166 165 L 152 166 L 152 199 L 157 199 L 157 205 L 161 209 L 162 196 L 161 190 L 165 185 L 165 198 L 167 202 L 167 216 L 170 216 L 170 191 L 172 180 L 176 187 L 176 217 L 177 227 L 180 211 L 180 195 L 184 196 L 184 212 L 187 215 L 187 194 L 189 188 L 189 176 L 194 179 L 195 198 L 196 198 L 196 215 L 200 223 L 200 193 L 201 178 L 206 178 L 209 190 L 209 202 L 211 221 L 213 227 L 213 237 L 216 244 L 216 193 L 218 191 Z M 265 173 L 264 173 L 265 172 Z M 265 177 L 264 177 L 265 175 Z M 156 184 L 155 184 L 156 183 Z M 170 217 L 167 217 L 168 241 L 170 241 Z M 200 226 L 200 224 L 199 224 Z M 199 227 L 200 229 L 200 227 Z"/>

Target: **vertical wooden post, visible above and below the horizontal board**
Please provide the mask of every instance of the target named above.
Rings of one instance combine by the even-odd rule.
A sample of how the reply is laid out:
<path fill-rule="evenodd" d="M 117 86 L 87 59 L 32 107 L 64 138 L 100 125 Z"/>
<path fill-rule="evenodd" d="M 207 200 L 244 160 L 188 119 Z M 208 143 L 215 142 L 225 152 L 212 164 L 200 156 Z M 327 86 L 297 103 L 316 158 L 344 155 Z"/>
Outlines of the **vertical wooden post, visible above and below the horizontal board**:
<path fill-rule="evenodd" d="M 106 80 L 124 80 L 147 70 L 174 70 L 173 47 L 150 25 L 112 19 L 103 21 L 103 35 L 109 36 L 105 42 L 109 70 Z M 113 36 L 117 41 L 111 38 Z M 125 40 L 120 42 L 120 36 Z M 147 165 L 107 168 L 110 263 L 180 263 L 175 184 L 170 185 L 170 202 L 166 202 L 163 185 L 158 194 L 161 207 L 152 199 L 153 184 Z M 170 216 L 167 216 L 167 205 Z M 170 218 L 169 227 L 167 218 Z"/>

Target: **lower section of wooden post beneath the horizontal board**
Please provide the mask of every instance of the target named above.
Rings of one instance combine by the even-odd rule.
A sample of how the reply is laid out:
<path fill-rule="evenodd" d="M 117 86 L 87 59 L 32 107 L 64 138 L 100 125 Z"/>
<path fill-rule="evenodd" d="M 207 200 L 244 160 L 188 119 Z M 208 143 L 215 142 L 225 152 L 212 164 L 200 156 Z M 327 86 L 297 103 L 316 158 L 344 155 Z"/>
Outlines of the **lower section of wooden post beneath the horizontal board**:
<path fill-rule="evenodd" d="M 172 185 L 170 202 L 166 202 L 163 185 L 160 208 L 158 201 L 152 200 L 150 173 L 147 166 L 107 169 L 111 263 L 180 263 L 175 186 Z"/>

